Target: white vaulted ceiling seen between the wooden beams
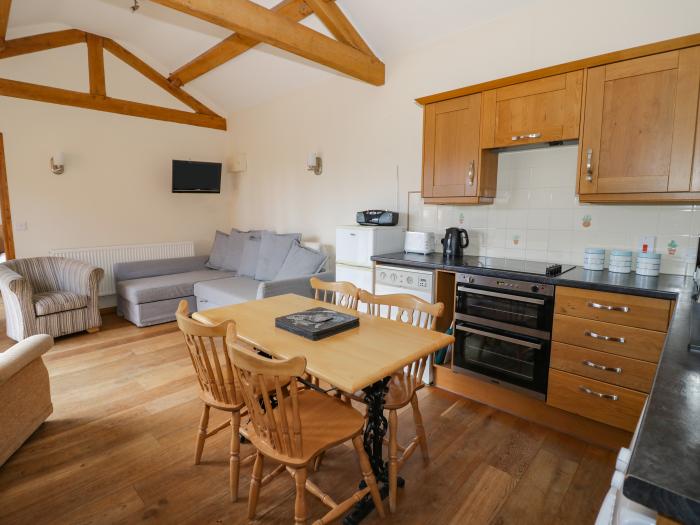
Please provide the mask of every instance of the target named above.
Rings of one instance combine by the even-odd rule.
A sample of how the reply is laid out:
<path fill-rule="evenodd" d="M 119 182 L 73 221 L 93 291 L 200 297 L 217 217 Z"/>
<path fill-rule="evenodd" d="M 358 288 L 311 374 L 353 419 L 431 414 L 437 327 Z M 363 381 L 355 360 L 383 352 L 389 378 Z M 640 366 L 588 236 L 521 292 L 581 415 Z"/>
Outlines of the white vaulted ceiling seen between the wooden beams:
<path fill-rule="evenodd" d="M 256 0 L 272 7 L 279 0 Z M 392 57 L 466 30 L 536 0 L 338 0 L 391 77 Z M 226 38 L 230 31 L 139 0 L 14 0 L 8 38 L 62 28 L 110 37 L 167 75 Z M 329 35 L 310 16 L 305 25 Z M 289 90 L 339 75 L 295 55 L 259 45 L 194 80 L 186 89 L 222 112 L 259 104 Z M 358 80 L 347 78 L 348 82 Z M 380 88 L 377 88 L 380 89 Z"/>

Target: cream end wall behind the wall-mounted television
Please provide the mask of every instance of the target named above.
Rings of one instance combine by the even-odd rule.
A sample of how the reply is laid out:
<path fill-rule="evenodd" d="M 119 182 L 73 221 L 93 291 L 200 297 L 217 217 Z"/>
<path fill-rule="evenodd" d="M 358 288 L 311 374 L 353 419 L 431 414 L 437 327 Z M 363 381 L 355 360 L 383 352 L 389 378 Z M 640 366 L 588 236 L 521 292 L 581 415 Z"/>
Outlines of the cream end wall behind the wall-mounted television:
<path fill-rule="evenodd" d="M 182 105 L 107 53 L 107 92 Z M 85 46 L 0 62 L 0 77 L 87 90 Z M 217 228 L 230 228 L 231 179 L 221 195 L 174 195 L 172 159 L 224 159 L 220 131 L 0 97 L 18 257 L 52 248 L 193 240 L 208 253 Z M 65 174 L 49 171 L 63 151 Z"/>

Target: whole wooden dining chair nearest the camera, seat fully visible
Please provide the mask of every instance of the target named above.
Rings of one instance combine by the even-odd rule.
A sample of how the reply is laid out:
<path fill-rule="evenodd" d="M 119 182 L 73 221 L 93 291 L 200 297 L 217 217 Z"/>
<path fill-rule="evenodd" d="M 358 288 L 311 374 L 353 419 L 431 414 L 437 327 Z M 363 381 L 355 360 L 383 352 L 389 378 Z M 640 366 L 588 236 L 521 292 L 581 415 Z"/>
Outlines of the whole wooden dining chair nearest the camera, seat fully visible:
<path fill-rule="evenodd" d="M 340 518 L 368 493 L 377 513 L 384 517 L 379 487 L 362 442 L 362 414 L 336 398 L 299 388 L 297 378 L 306 369 L 306 359 L 303 357 L 265 359 L 240 344 L 233 326 L 229 326 L 226 344 L 233 357 L 236 377 L 250 416 L 244 432 L 257 449 L 248 496 L 248 518 L 255 517 L 261 486 L 284 470 L 291 474 L 296 485 L 294 523 L 297 525 L 307 521 L 306 491 L 330 508 L 322 518 L 314 521 L 316 525 Z M 273 404 L 267 391 L 258 394 L 265 381 L 274 384 L 276 404 Z M 308 479 L 308 474 L 317 456 L 349 440 L 357 452 L 366 486 L 336 503 Z M 265 458 L 280 465 L 263 478 Z"/>

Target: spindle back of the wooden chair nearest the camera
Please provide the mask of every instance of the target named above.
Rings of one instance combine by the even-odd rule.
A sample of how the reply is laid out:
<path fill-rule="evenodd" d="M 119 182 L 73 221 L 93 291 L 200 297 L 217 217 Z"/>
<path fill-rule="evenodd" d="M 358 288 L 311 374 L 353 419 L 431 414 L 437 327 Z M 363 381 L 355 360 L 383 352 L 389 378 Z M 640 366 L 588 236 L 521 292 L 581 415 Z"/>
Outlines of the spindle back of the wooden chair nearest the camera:
<path fill-rule="evenodd" d="M 306 359 L 261 357 L 237 341 L 233 326 L 229 327 L 226 344 L 256 435 L 278 454 L 301 457 L 303 440 L 297 378 L 304 374 Z M 276 405 L 271 394 L 275 396 Z"/>

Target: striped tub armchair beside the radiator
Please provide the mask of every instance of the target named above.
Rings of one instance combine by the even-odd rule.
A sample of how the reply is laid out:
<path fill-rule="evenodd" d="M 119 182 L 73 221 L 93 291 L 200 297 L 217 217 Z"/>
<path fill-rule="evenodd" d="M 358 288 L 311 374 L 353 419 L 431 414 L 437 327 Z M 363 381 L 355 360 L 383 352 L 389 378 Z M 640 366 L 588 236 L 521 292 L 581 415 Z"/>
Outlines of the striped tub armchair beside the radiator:
<path fill-rule="evenodd" d="M 97 289 L 104 270 L 63 257 L 15 259 L 0 264 L 7 336 L 53 337 L 102 325 Z"/>

